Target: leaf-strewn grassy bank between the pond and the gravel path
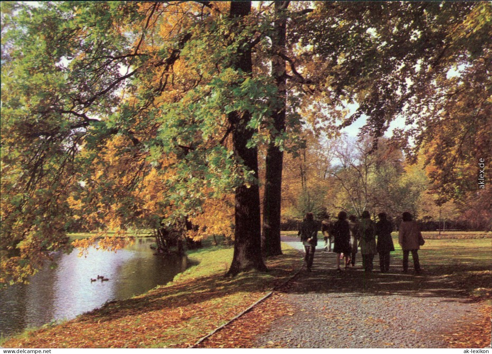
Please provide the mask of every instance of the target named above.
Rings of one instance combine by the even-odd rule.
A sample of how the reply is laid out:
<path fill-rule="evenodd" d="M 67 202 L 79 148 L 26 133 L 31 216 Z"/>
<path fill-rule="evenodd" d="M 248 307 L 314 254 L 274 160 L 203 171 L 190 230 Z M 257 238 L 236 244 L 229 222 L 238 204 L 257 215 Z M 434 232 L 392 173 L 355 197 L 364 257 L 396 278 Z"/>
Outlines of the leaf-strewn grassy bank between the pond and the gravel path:
<path fill-rule="evenodd" d="M 195 266 L 144 295 L 105 304 L 58 325 L 8 338 L 5 348 L 186 348 L 283 284 L 302 266 L 297 250 L 267 260 L 268 273 L 225 278 L 232 248 L 189 254 Z M 279 309 L 281 311 L 281 309 Z"/>

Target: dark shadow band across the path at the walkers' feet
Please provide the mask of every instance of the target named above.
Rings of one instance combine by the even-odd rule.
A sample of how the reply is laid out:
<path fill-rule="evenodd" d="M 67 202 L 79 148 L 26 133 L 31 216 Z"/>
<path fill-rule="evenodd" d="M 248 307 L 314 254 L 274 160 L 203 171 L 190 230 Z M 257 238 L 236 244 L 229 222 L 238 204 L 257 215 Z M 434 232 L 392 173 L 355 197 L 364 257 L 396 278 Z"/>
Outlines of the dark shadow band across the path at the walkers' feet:
<path fill-rule="evenodd" d="M 302 249 L 298 238 L 284 236 L 284 242 Z M 357 253 L 356 265 L 350 266 L 338 272 L 336 269 L 336 254 L 324 251 L 322 243 L 318 241 L 318 247 L 314 255 L 313 270 L 307 272 L 306 268 L 279 292 L 288 294 L 305 293 L 340 293 L 346 296 L 361 295 L 406 295 L 412 297 L 452 297 L 469 301 L 468 294 L 458 289 L 450 280 L 449 274 L 456 272 L 456 265 L 423 264 L 424 272 L 416 275 L 413 272 L 413 262 L 410 256 L 409 271 L 403 273 L 401 259 L 394 257 L 388 273 L 379 271 L 379 257 L 374 257 L 374 270 L 367 273 L 362 268 L 361 253 Z M 321 246 L 320 246 L 321 244 Z M 425 252 L 425 250 L 424 250 Z M 422 258 L 422 256 L 421 256 Z M 421 262 L 422 263 L 422 262 Z M 340 260 L 343 265 L 343 260 Z M 483 263 L 460 264 L 460 271 L 483 271 L 488 266 Z"/>

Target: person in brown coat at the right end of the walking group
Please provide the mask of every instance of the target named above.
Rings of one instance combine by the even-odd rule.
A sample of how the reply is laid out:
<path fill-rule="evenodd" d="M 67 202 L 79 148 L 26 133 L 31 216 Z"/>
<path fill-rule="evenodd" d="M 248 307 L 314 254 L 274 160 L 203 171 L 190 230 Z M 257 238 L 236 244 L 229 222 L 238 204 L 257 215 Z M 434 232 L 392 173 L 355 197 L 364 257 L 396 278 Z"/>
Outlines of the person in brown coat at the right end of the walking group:
<path fill-rule="evenodd" d="M 413 266 L 418 274 L 421 272 L 418 250 L 420 249 L 419 237 L 422 234 L 417 222 L 412 220 L 412 214 L 405 211 L 402 218 L 403 221 L 398 232 L 398 243 L 403 250 L 403 272 L 408 271 L 408 255 L 412 252 Z"/>

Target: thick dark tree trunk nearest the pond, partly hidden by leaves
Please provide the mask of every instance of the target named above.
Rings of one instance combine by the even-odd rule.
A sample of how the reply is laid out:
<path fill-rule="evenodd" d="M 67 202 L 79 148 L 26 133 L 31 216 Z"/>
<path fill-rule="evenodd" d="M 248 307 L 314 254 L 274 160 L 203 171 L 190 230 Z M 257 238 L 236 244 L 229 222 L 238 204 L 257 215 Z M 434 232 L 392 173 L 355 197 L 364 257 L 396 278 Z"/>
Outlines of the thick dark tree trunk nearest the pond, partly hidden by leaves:
<path fill-rule="evenodd" d="M 251 10 L 251 1 L 231 1 L 231 18 L 247 16 Z M 240 52 L 233 62 L 233 68 L 245 73 L 252 72 L 251 48 L 241 46 Z M 246 168 L 253 171 L 258 178 L 258 151 L 247 148 L 247 142 L 253 132 L 246 127 L 250 120 L 249 112 L 231 112 L 228 115 L 232 127 L 232 142 L 236 159 L 242 161 Z M 236 189 L 234 233 L 234 255 L 227 275 L 234 276 L 241 271 L 256 269 L 266 271 L 261 255 L 261 220 L 260 193 L 258 184 L 241 185 Z"/>

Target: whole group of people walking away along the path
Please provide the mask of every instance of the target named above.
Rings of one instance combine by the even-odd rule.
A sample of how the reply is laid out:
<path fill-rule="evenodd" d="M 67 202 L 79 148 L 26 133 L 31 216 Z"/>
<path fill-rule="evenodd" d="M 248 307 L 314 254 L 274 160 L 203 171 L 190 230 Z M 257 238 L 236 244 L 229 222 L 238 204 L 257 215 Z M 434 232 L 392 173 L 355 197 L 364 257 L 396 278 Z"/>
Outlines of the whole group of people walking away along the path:
<path fill-rule="evenodd" d="M 393 224 L 388 220 L 385 212 L 380 212 L 379 220 L 375 223 L 371 220 L 369 211 L 364 211 L 361 220 L 355 215 L 350 215 L 347 221 L 347 213 L 340 211 L 338 220 L 332 222 L 329 215 L 321 222 L 321 232 L 325 241 L 325 250 L 337 254 L 337 271 L 341 272 L 340 261 L 343 260 L 345 269 L 355 266 L 355 260 L 360 248 L 362 265 L 366 272 L 373 270 L 374 256 L 379 255 L 379 268 L 381 273 L 390 269 L 390 252 L 395 251 L 391 233 Z M 412 220 L 409 212 L 402 214 L 402 222 L 399 227 L 398 242 L 403 251 L 403 272 L 408 271 L 408 257 L 412 253 L 413 265 L 416 273 L 421 272 L 418 250 L 423 244 L 422 233 L 417 222 Z M 318 222 L 314 220 L 312 213 L 307 213 L 299 227 L 298 235 L 306 250 L 305 262 L 310 271 L 316 245 L 318 243 Z"/>

